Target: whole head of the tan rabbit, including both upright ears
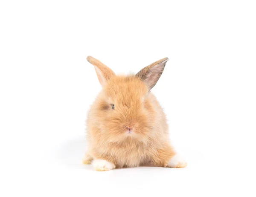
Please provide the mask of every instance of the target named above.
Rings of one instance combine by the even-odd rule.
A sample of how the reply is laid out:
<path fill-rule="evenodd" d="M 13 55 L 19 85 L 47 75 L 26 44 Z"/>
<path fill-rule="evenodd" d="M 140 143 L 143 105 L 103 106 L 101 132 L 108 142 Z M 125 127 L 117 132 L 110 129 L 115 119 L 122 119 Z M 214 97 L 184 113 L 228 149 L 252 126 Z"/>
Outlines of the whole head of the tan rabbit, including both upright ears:
<path fill-rule="evenodd" d="M 127 138 L 144 140 L 152 135 L 157 125 L 155 97 L 150 90 L 160 78 L 168 58 L 143 68 L 136 75 L 119 76 L 95 58 L 87 60 L 94 65 L 102 92 L 91 113 L 97 119 L 102 137 L 109 142 Z M 154 136 L 152 136 L 154 137 Z"/>

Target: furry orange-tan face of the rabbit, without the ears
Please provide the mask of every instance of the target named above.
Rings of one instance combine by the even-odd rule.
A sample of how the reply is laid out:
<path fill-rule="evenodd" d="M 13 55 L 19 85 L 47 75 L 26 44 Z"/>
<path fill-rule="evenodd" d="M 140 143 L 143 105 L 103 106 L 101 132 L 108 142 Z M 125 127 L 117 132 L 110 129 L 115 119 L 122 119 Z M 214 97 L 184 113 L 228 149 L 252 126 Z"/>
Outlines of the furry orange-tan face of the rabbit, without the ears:
<path fill-rule="evenodd" d="M 143 139 L 154 122 L 148 88 L 135 76 L 115 76 L 103 87 L 99 104 L 101 129 L 110 141 Z"/>

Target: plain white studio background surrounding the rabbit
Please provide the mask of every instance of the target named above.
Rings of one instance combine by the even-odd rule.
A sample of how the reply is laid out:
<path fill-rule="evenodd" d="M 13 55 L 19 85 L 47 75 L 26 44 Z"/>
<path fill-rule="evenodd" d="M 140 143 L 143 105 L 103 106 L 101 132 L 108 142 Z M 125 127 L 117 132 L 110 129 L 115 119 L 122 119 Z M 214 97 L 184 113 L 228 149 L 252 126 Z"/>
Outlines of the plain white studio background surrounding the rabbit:
<path fill-rule="evenodd" d="M 187 168 L 81 163 L 87 55 L 116 73 L 169 57 L 152 91 Z M 255 1 L 0 2 L 1 196 L 255 196 L 255 133 Z"/>

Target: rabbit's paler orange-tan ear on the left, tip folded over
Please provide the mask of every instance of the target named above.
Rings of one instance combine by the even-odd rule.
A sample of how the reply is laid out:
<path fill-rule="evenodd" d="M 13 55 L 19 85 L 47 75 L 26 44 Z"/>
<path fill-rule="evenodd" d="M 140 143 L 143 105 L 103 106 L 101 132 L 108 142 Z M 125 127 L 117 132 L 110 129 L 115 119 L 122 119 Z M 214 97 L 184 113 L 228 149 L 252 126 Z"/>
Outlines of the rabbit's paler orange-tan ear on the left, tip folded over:
<path fill-rule="evenodd" d="M 102 85 L 102 87 L 111 77 L 115 75 L 115 73 L 109 67 L 107 67 L 99 60 L 93 58 L 92 56 L 88 56 L 87 61 L 94 65 L 96 74 L 99 79 L 99 83 Z"/>

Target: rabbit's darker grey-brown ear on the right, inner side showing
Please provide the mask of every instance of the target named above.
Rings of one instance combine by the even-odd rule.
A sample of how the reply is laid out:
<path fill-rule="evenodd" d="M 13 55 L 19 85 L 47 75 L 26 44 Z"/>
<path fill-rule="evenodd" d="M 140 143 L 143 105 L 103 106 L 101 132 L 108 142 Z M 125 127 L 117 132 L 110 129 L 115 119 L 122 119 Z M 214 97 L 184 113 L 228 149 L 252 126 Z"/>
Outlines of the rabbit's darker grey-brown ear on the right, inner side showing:
<path fill-rule="evenodd" d="M 163 69 L 168 60 L 168 58 L 160 59 L 140 70 L 136 76 L 143 80 L 147 84 L 149 90 L 151 90 L 162 75 Z"/>

